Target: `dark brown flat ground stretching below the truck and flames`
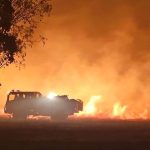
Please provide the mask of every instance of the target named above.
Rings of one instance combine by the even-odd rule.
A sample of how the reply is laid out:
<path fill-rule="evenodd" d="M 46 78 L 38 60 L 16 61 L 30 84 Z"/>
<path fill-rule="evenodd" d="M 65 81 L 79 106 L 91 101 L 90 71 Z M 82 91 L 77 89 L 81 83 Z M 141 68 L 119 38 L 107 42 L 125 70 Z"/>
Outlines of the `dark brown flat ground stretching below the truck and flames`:
<path fill-rule="evenodd" d="M 150 150 L 150 121 L 0 120 L 0 150 Z"/>

